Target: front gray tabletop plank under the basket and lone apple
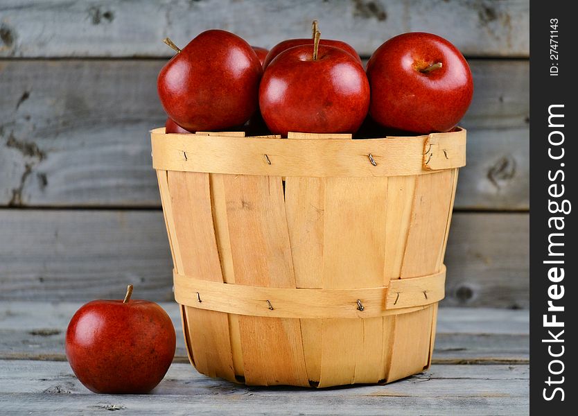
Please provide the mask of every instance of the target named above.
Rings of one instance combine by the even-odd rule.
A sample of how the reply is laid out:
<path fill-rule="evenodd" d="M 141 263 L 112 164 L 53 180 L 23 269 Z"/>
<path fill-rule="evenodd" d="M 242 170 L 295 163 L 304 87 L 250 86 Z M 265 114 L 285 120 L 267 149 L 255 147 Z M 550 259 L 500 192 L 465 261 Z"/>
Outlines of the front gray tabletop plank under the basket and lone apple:
<path fill-rule="evenodd" d="M 67 363 L 0 361 L 0 406 L 10 414 L 525 415 L 527 365 L 435 365 L 389 385 L 322 390 L 257 388 L 173 364 L 151 395 L 94 395 Z M 4 375 L 6 374 L 6 375 Z"/>

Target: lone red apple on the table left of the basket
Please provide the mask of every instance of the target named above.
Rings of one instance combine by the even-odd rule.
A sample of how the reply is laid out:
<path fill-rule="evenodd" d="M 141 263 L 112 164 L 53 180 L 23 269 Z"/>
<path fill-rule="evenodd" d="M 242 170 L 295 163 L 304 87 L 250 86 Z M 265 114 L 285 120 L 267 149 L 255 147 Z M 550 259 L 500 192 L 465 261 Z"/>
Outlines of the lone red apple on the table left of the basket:
<path fill-rule="evenodd" d="M 96 393 L 138 394 L 155 388 L 175 356 L 175 328 L 146 300 L 94 300 L 73 315 L 66 354 L 74 374 Z"/>

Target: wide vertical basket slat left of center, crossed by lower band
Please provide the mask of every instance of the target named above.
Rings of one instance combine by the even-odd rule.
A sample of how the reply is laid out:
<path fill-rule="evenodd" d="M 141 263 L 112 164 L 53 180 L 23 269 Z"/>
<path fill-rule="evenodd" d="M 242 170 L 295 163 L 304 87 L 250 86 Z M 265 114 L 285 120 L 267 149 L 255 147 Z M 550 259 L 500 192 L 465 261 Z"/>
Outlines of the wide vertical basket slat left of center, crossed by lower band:
<path fill-rule="evenodd" d="M 222 180 L 235 284 L 295 288 L 281 177 Z M 298 319 L 243 315 L 238 324 L 247 384 L 309 384 Z"/>

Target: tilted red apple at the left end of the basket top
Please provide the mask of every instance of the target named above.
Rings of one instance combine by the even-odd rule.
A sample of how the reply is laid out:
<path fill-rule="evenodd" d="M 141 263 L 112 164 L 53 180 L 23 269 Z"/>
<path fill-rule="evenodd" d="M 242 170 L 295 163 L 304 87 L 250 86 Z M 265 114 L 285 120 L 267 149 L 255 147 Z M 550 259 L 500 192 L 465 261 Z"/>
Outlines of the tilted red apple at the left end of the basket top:
<path fill-rule="evenodd" d="M 255 112 L 262 73 L 245 40 L 211 30 L 166 63 L 157 89 L 166 114 L 185 130 L 223 130 L 243 125 Z"/>

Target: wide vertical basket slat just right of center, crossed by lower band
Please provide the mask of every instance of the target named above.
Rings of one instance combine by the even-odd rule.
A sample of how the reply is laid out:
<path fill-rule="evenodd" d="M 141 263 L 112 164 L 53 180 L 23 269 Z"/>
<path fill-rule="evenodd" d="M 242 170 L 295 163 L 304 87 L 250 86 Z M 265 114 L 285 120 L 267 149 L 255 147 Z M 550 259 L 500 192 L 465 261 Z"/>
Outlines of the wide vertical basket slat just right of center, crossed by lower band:
<path fill-rule="evenodd" d="M 387 177 L 326 179 L 322 257 L 324 288 L 383 284 L 383 207 L 387 198 L 387 180 Z M 346 224 L 349 226 L 344 227 Z M 353 276 L 356 278 L 352 282 Z M 371 372 L 367 369 L 367 360 L 380 356 L 381 322 L 383 318 L 355 322 L 324 320 L 319 387 L 380 379 L 382 366 L 371 366 L 374 370 Z"/>

